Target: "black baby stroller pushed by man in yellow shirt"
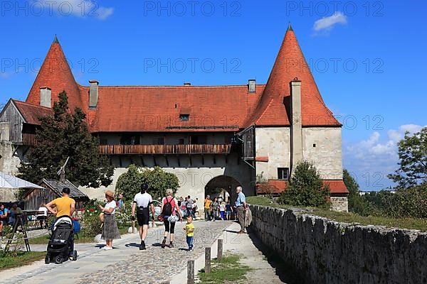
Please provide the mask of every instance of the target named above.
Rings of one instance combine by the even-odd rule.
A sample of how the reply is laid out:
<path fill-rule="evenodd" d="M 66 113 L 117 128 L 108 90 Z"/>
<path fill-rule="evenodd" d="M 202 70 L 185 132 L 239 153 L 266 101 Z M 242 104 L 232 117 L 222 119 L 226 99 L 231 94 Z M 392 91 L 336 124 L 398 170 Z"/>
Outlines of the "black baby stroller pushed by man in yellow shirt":
<path fill-rule="evenodd" d="M 61 216 L 53 224 L 45 263 L 48 264 L 51 261 L 62 263 L 68 258 L 77 260 L 77 251 L 74 250 L 74 226 L 70 217 Z"/>

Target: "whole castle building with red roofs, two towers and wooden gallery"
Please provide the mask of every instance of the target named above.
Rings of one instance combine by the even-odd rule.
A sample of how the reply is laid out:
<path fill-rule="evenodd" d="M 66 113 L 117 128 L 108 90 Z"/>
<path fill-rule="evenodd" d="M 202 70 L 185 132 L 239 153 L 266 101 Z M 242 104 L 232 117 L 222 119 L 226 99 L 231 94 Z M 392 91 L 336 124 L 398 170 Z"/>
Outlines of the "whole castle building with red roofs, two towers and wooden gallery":
<path fill-rule="evenodd" d="M 236 86 L 102 86 L 97 80 L 83 86 L 55 38 L 26 101 L 10 99 L 1 111 L 0 170 L 16 172 L 35 143 L 38 117 L 51 114 L 63 90 L 70 109 L 85 111 L 100 153 L 115 166 L 108 189 L 136 164 L 175 173 L 179 196 L 203 200 L 222 188 L 233 198 L 237 185 L 246 195 L 263 193 L 257 177 L 278 193 L 295 165 L 310 160 L 330 185 L 334 209 L 347 209 L 342 125 L 323 102 L 291 26 L 268 82 Z M 103 190 L 80 190 L 103 196 Z"/>

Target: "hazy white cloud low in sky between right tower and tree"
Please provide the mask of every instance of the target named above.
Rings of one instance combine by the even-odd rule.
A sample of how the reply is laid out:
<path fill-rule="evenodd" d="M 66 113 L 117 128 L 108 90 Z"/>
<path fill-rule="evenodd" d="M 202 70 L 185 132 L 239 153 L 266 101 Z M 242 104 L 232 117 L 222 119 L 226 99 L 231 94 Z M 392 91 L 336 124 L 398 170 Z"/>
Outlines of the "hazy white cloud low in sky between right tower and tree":
<path fill-rule="evenodd" d="M 423 127 L 426 126 L 405 124 L 399 129 L 390 129 L 384 138 L 374 131 L 362 141 L 343 141 L 344 168 L 354 175 L 361 190 L 381 190 L 392 185 L 387 175 L 398 168 L 397 143 L 404 138 L 406 131 L 413 134 Z"/>

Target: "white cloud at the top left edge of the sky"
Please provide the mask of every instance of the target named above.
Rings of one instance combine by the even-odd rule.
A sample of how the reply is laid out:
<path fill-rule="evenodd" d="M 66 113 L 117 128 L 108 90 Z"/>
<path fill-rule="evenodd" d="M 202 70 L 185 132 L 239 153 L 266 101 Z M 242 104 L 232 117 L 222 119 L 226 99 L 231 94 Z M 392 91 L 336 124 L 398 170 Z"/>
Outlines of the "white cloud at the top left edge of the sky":
<path fill-rule="evenodd" d="M 98 1 L 93 0 L 36 0 L 43 4 L 45 11 L 49 14 L 56 13 L 60 16 L 93 17 L 105 20 L 114 12 L 114 8 L 100 6 Z"/>

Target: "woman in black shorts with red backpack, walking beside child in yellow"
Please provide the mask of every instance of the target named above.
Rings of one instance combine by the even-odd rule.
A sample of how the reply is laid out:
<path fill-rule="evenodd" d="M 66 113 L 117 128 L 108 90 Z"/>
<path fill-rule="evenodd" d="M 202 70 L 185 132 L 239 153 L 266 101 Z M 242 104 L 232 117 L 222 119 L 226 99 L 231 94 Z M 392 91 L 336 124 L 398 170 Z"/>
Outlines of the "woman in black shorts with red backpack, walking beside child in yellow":
<path fill-rule="evenodd" d="M 170 243 L 169 248 L 174 247 L 174 238 L 175 238 L 175 222 L 178 217 L 176 217 L 176 212 L 179 214 L 179 221 L 182 222 L 181 210 L 178 207 L 178 201 L 172 195 L 174 191 L 170 188 L 166 190 L 166 197 L 162 199 L 162 212 L 163 223 L 164 223 L 164 235 L 162 241 L 162 249 L 166 246 L 167 236 L 170 234 Z"/>

